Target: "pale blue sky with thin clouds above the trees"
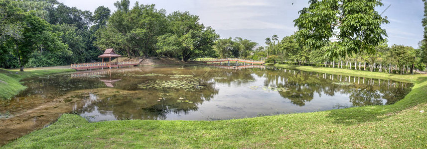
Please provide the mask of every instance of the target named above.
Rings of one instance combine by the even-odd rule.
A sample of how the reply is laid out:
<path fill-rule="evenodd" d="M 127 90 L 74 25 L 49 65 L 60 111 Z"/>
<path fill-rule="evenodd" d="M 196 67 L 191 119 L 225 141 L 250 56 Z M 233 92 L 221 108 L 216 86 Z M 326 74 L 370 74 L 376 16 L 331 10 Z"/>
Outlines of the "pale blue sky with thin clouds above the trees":
<path fill-rule="evenodd" d="M 70 7 L 95 11 L 104 5 L 116 10 L 117 0 L 58 0 Z M 297 29 L 293 20 L 298 11 L 308 6 L 308 0 L 130 0 L 131 6 L 136 1 L 140 4 L 155 4 L 157 9 L 189 11 L 198 15 L 200 22 L 211 26 L 221 36 L 242 37 L 265 46 L 265 39 L 274 34 L 280 39 L 292 35 Z M 383 25 L 387 30 L 389 45 L 406 45 L 418 48 L 423 38 L 424 4 L 422 0 L 382 0 L 384 6 L 377 7 L 382 16 L 387 16 L 389 24 Z"/>

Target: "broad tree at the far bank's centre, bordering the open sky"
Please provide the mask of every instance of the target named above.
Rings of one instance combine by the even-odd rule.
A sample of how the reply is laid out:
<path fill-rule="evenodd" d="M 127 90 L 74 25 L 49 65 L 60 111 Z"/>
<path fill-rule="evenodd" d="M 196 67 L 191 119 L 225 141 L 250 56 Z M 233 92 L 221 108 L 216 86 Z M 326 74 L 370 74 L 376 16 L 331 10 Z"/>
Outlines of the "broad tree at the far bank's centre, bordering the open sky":
<path fill-rule="evenodd" d="M 187 61 L 213 51 L 212 46 L 219 35 L 211 27 L 199 23 L 199 16 L 188 11 L 175 11 L 167 18 L 170 33 L 158 38 L 158 52 L 175 53 L 182 61 Z"/>

